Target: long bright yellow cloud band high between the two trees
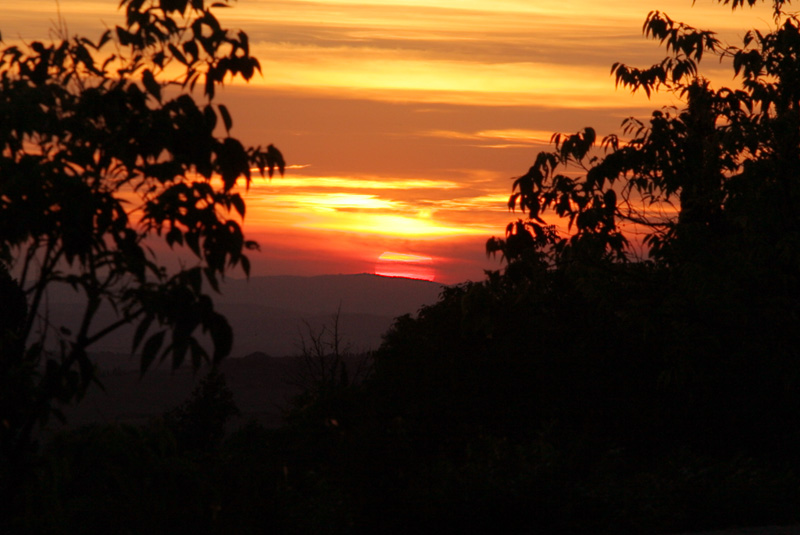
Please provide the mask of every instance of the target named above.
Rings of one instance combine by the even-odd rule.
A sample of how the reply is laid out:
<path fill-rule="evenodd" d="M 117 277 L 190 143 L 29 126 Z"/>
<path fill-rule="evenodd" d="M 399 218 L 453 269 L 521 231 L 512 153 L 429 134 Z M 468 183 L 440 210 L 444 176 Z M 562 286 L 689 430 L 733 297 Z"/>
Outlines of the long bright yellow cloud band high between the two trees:
<path fill-rule="evenodd" d="M 285 66 L 284 61 L 294 59 L 291 71 L 264 80 L 275 87 L 316 91 L 357 88 L 362 95 L 371 90 L 392 91 L 389 98 L 427 102 L 451 101 L 451 94 L 462 93 L 468 95 L 462 98 L 475 103 L 507 104 L 512 99 L 521 104 L 556 102 L 575 108 L 619 106 L 619 95 L 613 83 L 609 85 L 608 69 L 587 72 L 580 66 L 406 59 L 401 57 L 402 51 L 362 50 L 359 55 L 369 56 L 364 58 L 351 55 L 347 48 L 277 45 L 256 49 L 263 57 L 280 58 L 262 61 L 267 72 L 278 72 Z"/>

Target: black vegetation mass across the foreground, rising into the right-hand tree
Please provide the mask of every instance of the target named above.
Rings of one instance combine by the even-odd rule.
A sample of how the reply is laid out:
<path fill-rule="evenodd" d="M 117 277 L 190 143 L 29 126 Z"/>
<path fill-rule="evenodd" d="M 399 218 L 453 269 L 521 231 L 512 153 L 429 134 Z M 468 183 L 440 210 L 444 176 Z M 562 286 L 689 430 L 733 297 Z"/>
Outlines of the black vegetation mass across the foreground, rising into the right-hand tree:
<path fill-rule="evenodd" d="M 398 318 L 366 375 L 335 335 L 316 339 L 280 428 L 226 434 L 236 407 L 216 371 L 149 424 L 64 432 L 25 444 L 24 456 L 9 447 L 20 442 L 4 416 L 4 461 L 14 462 L 0 475 L 15 491 L 4 532 L 800 522 L 800 20 L 781 12 L 789 2 L 772 3 L 774 31 L 748 34 L 742 48 L 652 13 L 645 34 L 669 57 L 613 72 L 634 91 L 674 91 L 685 107 L 629 120 L 627 141 L 601 148 L 590 128 L 556 136 L 515 180 L 509 206 L 523 219 L 487 245 L 504 269 Z M 730 61 L 741 88 L 713 88 L 698 74 L 703 55 Z M 550 213 L 569 219 L 568 236 Z M 646 259 L 633 254 L 634 227 Z M 18 327 L 4 322 L 10 351 Z M 146 357 L 163 338 L 145 342 Z M 180 361 L 188 338 L 174 339 Z M 215 342 L 224 349 L 227 333 Z M 33 375 L 7 362 L 4 385 L 25 388 L 3 399 L 26 414 L 23 402 L 43 398 L 22 396 L 39 392 L 18 381 Z"/>

